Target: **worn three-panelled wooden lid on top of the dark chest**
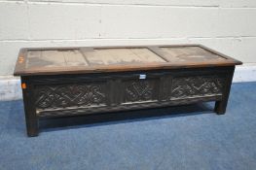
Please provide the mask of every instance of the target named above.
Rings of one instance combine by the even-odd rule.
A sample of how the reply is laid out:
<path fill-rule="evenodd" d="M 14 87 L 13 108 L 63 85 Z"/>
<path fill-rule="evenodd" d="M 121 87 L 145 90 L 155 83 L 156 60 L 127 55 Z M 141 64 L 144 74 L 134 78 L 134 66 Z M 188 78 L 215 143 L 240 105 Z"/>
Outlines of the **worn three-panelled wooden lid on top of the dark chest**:
<path fill-rule="evenodd" d="M 15 76 L 238 65 L 201 45 L 21 49 Z"/>

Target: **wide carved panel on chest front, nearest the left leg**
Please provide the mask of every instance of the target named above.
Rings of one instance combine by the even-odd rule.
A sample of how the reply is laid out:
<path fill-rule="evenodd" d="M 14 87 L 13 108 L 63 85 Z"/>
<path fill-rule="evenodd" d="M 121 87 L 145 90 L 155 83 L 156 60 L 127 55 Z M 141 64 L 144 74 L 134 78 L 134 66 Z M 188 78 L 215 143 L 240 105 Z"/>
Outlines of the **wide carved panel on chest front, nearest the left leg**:
<path fill-rule="evenodd" d="M 35 105 L 38 109 L 91 106 L 106 103 L 105 86 L 93 85 L 38 85 Z"/>

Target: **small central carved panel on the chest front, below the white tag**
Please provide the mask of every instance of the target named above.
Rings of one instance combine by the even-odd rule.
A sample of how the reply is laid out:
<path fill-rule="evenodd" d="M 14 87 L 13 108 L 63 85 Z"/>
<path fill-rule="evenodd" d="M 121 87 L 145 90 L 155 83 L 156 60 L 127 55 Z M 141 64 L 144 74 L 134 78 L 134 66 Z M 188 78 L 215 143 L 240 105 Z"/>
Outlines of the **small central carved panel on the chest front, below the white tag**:
<path fill-rule="evenodd" d="M 134 80 L 125 83 L 125 102 L 154 100 L 155 82 Z"/>

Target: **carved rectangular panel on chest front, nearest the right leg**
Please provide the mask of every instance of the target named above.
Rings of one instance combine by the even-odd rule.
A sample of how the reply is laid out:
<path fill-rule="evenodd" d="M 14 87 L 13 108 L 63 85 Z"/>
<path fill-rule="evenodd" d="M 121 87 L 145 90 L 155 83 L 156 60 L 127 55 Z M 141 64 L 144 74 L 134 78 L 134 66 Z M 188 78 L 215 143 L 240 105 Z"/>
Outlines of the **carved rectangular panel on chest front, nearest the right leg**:
<path fill-rule="evenodd" d="M 224 79 L 219 76 L 178 77 L 173 79 L 170 98 L 218 95 L 223 86 Z"/>

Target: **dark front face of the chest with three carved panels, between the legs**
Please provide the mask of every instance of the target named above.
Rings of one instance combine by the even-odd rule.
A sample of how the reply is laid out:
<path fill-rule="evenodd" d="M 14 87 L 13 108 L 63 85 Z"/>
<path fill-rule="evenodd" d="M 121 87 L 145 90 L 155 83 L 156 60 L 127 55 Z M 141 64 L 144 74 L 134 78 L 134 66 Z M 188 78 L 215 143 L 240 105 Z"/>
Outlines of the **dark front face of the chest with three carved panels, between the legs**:
<path fill-rule="evenodd" d="M 232 68 L 161 70 L 36 76 L 26 82 L 37 116 L 58 117 L 220 100 L 231 73 Z"/>

